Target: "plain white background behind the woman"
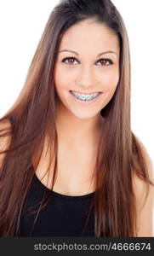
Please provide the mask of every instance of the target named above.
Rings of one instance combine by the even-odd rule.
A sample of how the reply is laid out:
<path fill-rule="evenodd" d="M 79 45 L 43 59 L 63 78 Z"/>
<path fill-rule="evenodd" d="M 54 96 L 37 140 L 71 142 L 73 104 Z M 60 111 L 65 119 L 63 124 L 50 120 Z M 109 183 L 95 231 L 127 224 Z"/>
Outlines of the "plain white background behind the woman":
<path fill-rule="evenodd" d="M 54 0 L 0 2 L 0 117 L 12 106 L 26 79 L 27 69 Z M 131 53 L 132 130 L 154 162 L 154 1 L 112 0 L 127 27 Z"/>

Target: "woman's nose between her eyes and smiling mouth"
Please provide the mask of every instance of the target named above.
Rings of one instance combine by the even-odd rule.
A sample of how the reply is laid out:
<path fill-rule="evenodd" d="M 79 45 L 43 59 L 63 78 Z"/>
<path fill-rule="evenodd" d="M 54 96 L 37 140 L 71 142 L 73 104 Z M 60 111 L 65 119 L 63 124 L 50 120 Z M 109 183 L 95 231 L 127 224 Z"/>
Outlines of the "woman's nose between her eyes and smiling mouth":
<path fill-rule="evenodd" d="M 94 72 L 91 67 L 81 67 L 79 73 L 77 73 L 77 85 L 78 87 L 88 88 L 94 87 Z"/>

